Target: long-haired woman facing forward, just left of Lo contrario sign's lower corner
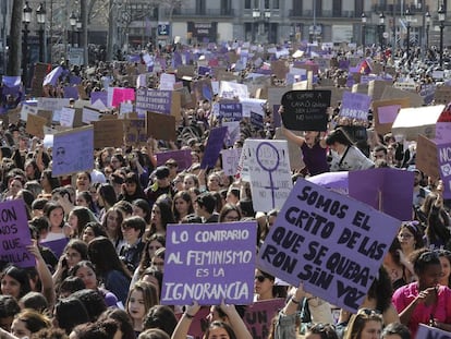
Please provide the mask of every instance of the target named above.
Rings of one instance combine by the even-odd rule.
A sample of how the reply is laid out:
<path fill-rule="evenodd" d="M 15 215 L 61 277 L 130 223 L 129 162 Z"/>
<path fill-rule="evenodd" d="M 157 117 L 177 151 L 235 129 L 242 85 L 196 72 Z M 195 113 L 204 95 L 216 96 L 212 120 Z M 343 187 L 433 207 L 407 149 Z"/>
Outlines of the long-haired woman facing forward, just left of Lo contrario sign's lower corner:
<path fill-rule="evenodd" d="M 133 329 L 138 336 L 143 331 L 144 317 L 150 307 L 158 304 L 157 289 L 149 282 L 137 281 L 129 292 L 126 312 L 132 318 Z"/>

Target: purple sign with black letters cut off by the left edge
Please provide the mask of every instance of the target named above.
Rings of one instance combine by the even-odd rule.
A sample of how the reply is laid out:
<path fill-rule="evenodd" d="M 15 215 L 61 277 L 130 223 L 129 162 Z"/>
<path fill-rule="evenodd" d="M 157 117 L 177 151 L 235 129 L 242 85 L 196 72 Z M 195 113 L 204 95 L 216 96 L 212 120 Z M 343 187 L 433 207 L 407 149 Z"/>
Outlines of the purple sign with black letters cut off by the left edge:
<path fill-rule="evenodd" d="M 26 249 L 32 244 L 25 204 L 22 199 L 0 204 L 0 261 L 20 267 L 34 267 L 35 257 Z"/>

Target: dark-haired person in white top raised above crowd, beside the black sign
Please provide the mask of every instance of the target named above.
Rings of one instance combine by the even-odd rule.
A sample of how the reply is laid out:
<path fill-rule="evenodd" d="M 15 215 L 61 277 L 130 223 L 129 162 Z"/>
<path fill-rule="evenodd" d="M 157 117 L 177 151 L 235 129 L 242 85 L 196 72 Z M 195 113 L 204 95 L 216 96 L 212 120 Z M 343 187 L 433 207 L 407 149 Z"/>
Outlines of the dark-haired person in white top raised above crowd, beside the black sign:
<path fill-rule="evenodd" d="M 343 129 L 338 128 L 326 137 L 332 150 L 330 171 L 353 171 L 374 168 L 375 164 L 359 150 Z"/>

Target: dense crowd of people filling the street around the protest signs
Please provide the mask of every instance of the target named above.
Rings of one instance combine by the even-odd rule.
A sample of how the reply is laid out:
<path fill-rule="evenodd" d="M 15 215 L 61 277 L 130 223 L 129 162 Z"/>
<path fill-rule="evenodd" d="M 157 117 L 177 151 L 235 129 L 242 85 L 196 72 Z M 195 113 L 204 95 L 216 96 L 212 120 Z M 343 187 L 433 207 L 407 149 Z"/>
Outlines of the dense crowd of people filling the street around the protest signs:
<path fill-rule="evenodd" d="M 125 66 L 99 63 L 89 75 L 87 69 L 73 71 L 89 96 L 105 86 L 124 85 L 118 74 Z M 327 74 L 342 76 L 337 70 Z M 148 86 L 158 88 L 158 82 L 151 76 Z M 59 86 L 45 93 L 58 97 Z M 51 149 L 25 133 L 23 121 L 2 124 L 1 202 L 23 199 L 36 265 L 1 263 L 0 338 L 188 338 L 202 308 L 197 302 L 160 304 L 167 226 L 255 220 L 258 251 L 279 211 L 254 208 L 249 183 L 227 175 L 220 157 L 215 168 L 200 167 L 209 131 L 220 124 L 212 112 L 219 99 L 203 98 L 195 108 L 182 108 L 176 141 L 149 136 L 139 147 L 96 149 L 92 171 L 60 178 L 52 175 Z M 8 100 L 14 106 L 14 98 Z M 255 302 L 285 300 L 268 324 L 268 338 L 294 339 L 302 331 L 307 339 L 407 339 L 415 338 L 419 324 L 451 331 L 451 233 L 443 183 L 415 167 L 414 146 L 404 147 L 391 133 L 378 134 L 370 121 L 367 126 L 340 125 L 339 112 L 339 106 L 330 110 L 325 133 L 300 135 L 281 126 L 303 157 L 293 181 L 329 171 L 412 170 L 412 220 L 400 227 L 356 314 L 341 310 L 334 319 L 334 306 L 305 291 L 302 282 L 278 284 L 277 277 L 257 267 Z M 266 108 L 263 128 L 244 119 L 231 147 L 242 147 L 247 137 L 272 138 L 276 113 L 285 114 L 283 107 L 278 112 Z M 356 140 L 357 130 L 366 138 Z M 190 167 L 180 168 L 173 158 L 157 164 L 156 154 L 176 149 L 191 152 Z M 46 243 L 59 240 L 68 242 L 58 256 Z M 244 308 L 211 305 L 204 338 L 251 339 Z"/>

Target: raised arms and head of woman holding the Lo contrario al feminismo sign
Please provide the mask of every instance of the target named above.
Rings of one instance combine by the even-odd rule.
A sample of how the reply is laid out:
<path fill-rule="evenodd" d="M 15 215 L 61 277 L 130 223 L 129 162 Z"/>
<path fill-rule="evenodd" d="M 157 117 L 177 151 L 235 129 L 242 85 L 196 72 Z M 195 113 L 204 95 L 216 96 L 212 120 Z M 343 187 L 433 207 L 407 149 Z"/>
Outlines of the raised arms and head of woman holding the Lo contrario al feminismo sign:
<path fill-rule="evenodd" d="M 229 324 L 215 320 L 209 324 L 207 330 L 204 334 L 205 339 L 252 339 L 252 335 L 246 328 L 243 319 L 240 314 L 236 312 L 234 305 L 226 305 L 223 302 L 220 305 L 223 313 L 226 313 Z M 186 339 L 187 331 L 190 329 L 191 323 L 197 312 L 200 310 L 200 306 L 197 303 L 188 306 L 185 313 L 179 320 L 174 332 L 172 334 L 171 339 Z"/>

